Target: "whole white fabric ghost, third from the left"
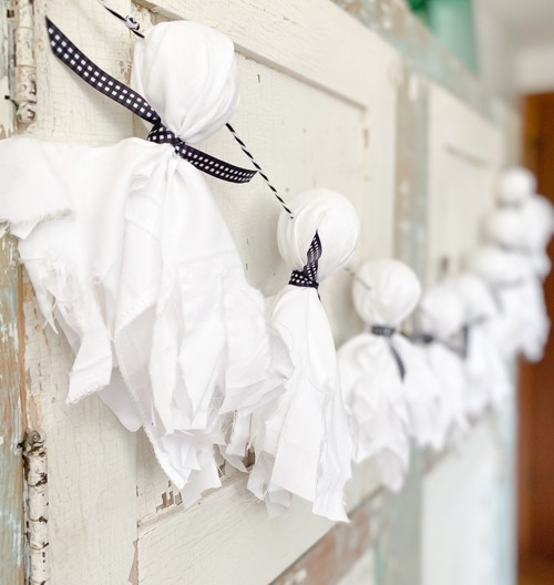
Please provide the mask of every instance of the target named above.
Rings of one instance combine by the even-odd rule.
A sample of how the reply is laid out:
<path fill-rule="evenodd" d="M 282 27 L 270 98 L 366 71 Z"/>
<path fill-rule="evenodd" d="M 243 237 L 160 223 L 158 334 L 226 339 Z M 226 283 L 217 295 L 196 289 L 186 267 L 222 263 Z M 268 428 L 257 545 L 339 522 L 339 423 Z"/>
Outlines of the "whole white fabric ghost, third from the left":
<path fill-rule="evenodd" d="M 394 491 L 408 470 L 409 435 L 420 444 L 437 443 L 439 387 L 417 349 L 396 332 L 420 294 L 417 276 L 402 263 L 365 263 L 355 277 L 352 296 L 370 330 L 338 351 L 353 461 L 373 458 L 382 483 Z"/>

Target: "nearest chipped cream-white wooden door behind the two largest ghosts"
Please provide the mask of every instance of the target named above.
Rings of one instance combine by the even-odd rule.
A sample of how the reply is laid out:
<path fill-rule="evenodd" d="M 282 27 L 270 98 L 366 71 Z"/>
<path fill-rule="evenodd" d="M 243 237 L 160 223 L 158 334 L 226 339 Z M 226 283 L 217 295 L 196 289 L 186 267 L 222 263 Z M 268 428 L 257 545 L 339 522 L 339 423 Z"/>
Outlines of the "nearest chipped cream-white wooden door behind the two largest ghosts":
<path fill-rule="evenodd" d="M 127 13 L 130 4 L 111 6 Z M 48 16 L 101 66 L 126 80 L 133 39 L 96 3 L 38 0 L 38 117 L 29 132 L 57 141 L 106 144 L 136 130 L 126 111 L 85 86 L 48 50 Z M 161 0 L 144 2 L 141 21 L 191 19 L 235 42 L 242 103 L 239 135 L 285 198 L 312 186 L 347 195 L 363 235 L 357 260 L 390 255 L 393 238 L 397 52 L 328 0 Z M 222 131 L 208 152 L 245 165 Z M 244 261 L 248 280 L 266 295 L 288 279 L 275 228 L 279 207 L 258 179 L 248 186 L 209 181 Z M 320 288 L 337 343 L 359 330 L 350 280 Z M 62 336 L 43 328 L 25 285 L 29 420 L 48 437 L 51 535 L 55 584 L 142 585 L 269 583 L 330 524 L 296 502 L 269 521 L 229 474 L 224 488 L 183 510 L 142 433 L 124 431 L 90 398 L 66 407 L 72 356 Z M 227 472 L 227 471 L 226 471 Z M 353 507 L 376 488 L 371 465 L 358 470 L 348 494 Z"/>

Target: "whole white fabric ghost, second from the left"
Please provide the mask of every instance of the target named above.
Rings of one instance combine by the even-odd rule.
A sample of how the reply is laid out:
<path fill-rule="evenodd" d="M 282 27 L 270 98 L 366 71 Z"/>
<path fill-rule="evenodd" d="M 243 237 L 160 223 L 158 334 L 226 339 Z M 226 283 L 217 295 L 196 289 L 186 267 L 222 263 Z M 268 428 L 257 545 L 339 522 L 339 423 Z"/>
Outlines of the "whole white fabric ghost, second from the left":
<path fill-rule="evenodd" d="M 308 191 L 289 202 L 294 219 L 279 217 L 279 252 L 295 270 L 307 265 L 317 232 L 321 281 L 350 258 L 359 220 L 343 196 Z M 332 333 L 317 288 L 288 284 L 269 302 L 270 320 L 289 348 L 295 370 L 285 393 L 256 410 L 252 447 L 256 461 L 248 489 L 266 502 L 269 515 L 285 511 L 291 495 L 312 502 L 315 514 L 347 521 L 343 486 L 350 476 L 352 442 L 337 372 Z"/>

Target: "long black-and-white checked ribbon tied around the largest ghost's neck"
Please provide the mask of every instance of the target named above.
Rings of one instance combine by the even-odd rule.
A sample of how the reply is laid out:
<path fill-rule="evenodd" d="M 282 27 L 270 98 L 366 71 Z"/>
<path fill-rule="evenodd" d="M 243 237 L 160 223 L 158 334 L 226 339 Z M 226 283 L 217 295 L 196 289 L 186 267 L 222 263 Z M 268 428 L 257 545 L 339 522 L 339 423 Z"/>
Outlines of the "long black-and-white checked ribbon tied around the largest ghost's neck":
<path fill-rule="evenodd" d="M 160 114 L 131 88 L 109 75 L 93 63 L 65 34 L 47 18 L 48 34 L 53 53 L 83 81 L 111 100 L 123 105 L 146 122 L 154 124 L 148 135 L 151 142 L 172 144 L 175 152 L 199 171 L 230 183 L 248 183 L 257 171 L 228 164 L 183 142 L 167 130 Z"/>

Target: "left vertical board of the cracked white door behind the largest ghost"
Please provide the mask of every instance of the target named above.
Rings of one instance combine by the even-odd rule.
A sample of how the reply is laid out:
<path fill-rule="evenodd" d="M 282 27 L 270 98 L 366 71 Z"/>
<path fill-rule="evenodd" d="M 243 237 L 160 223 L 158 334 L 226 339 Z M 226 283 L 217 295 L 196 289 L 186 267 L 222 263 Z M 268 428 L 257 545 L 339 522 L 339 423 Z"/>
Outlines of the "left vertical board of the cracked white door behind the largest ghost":
<path fill-rule="evenodd" d="M 119 10 L 127 2 L 113 1 Z M 126 80 L 130 33 L 96 2 L 35 1 L 34 136 L 101 145 L 132 134 L 132 116 L 94 95 L 50 54 L 44 16 L 117 79 Z M 110 30 L 107 34 L 105 31 Z M 48 563 L 54 584 L 121 585 L 134 579 L 136 442 L 95 397 L 65 404 L 73 355 L 63 336 L 44 327 L 24 283 L 28 424 L 45 437 L 49 475 Z"/>

